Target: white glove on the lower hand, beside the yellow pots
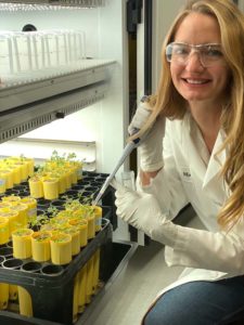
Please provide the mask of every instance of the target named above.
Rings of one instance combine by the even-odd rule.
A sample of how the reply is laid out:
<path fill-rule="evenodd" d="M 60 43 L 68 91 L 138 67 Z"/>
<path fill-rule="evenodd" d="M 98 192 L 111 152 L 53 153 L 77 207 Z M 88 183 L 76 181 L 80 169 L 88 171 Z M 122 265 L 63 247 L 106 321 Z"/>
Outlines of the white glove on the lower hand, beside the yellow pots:
<path fill-rule="evenodd" d="M 160 212 L 153 195 L 132 191 L 116 180 L 113 180 L 111 185 L 116 190 L 115 205 L 118 217 L 151 238 L 168 246 L 174 245 L 177 235 L 176 225 Z"/>

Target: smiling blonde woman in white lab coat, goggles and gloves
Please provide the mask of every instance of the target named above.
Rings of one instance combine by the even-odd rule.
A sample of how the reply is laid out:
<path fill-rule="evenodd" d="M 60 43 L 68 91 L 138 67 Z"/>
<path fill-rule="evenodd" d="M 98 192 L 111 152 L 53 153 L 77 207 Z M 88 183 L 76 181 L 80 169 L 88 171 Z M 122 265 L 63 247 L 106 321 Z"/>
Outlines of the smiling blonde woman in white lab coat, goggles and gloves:
<path fill-rule="evenodd" d="M 113 182 L 117 214 L 165 244 L 169 266 L 187 266 L 145 325 L 229 324 L 244 313 L 243 100 L 244 16 L 230 0 L 189 1 L 163 46 L 157 94 L 129 127 L 142 128 L 138 190 Z M 188 203 L 206 230 L 170 221 Z"/>

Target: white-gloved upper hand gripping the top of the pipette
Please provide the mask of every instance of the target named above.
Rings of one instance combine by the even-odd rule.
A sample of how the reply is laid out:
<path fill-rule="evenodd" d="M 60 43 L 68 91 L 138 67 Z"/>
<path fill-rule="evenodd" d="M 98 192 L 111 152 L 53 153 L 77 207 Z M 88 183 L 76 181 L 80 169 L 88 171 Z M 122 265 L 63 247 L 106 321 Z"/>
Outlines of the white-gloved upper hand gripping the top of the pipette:
<path fill-rule="evenodd" d="M 136 114 L 128 127 L 129 134 L 133 134 L 134 130 L 141 129 L 147 121 L 152 108 L 142 99 L 139 103 Z M 165 134 L 165 117 L 158 116 L 153 127 L 142 135 L 139 143 L 140 167 L 143 171 L 156 171 L 164 166 L 163 162 L 163 138 Z"/>

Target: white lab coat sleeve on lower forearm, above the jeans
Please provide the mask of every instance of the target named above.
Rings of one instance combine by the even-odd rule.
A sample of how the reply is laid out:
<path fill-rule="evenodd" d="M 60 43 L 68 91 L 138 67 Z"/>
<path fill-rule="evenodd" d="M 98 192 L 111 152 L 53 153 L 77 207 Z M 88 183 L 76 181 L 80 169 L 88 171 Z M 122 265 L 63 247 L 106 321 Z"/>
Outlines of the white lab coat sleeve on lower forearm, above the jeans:
<path fill-rule="evenodd" d="M 167 231 L 167 230 L 165 230 Z M 244 274 L 244 218 L 229 231 L 211 233 L 172 224 L 171 247 L 166 246 L 165 260 L 169 266 L 207 269 L 234 275 Z M 159 240 L 160 242 L 160 240 Z"/>

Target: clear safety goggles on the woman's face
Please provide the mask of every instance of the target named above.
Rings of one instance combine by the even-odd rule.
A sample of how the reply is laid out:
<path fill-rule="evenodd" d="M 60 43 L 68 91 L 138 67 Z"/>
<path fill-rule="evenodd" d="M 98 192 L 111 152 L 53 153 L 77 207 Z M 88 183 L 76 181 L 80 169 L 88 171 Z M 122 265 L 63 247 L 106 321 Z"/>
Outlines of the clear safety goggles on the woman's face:
<path fill-rule="evenodd" d="M 189 57 L 197 53 L 201 64 L 204 67 L 210 67 L 216 64 L 224 64 L 224 57 L 221 46 L 218 43 L 192 46 L 181 42 L 172 42 L 166 47 L 166 58 L 178 65 L 187 65 Z"/>

